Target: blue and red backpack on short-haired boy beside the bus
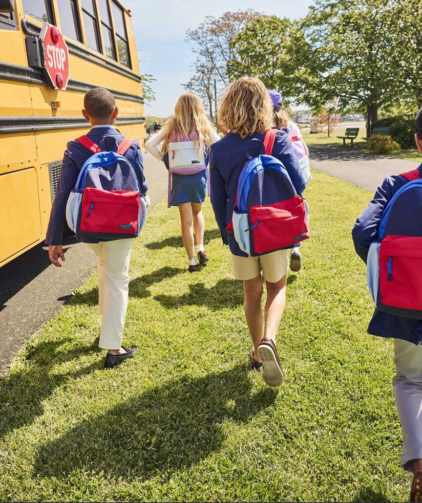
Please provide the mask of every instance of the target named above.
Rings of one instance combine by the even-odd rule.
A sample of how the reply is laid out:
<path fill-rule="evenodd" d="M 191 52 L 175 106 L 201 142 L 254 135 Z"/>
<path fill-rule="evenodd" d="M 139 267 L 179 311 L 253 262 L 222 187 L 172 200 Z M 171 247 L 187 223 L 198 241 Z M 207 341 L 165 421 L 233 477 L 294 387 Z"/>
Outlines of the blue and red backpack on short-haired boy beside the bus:
<path fill-rule="evenodd" d="M 136 237 L 146 216 L 135 170 L 124 157 L 132 145 L 123 138 L 117 152 L 101 152 L 87 136 L 76 138 L 92 152 L 79 172 L 66 206 L 66 220 L 78 235 L 97 239 Z"/>

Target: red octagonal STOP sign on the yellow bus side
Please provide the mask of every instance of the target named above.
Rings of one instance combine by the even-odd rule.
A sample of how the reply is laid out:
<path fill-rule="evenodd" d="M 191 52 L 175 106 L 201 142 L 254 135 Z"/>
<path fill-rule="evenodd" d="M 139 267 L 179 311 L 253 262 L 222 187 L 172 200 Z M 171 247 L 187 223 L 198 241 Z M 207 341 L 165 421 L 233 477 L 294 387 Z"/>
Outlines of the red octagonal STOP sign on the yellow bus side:
<path fill-rule="evenodd" d="M 70 76 L 69 50 L 57 26 L 44 23 L 40 33 L 44 70 L 50 86 L 66 89 Z"/>

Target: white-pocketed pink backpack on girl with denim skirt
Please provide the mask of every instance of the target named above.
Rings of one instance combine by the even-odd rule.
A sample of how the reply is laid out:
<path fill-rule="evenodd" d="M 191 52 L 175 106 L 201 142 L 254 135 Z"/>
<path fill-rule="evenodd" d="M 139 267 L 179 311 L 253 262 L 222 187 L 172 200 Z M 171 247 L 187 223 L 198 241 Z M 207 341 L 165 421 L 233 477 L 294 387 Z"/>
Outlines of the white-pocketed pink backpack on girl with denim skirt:
<path fill-rule="evenodd" d="M 168 144 L 168 207 L 170 208 L 171 174 L 194 175 L 206 171 L 209 196 L 209 172 L 205 153 L 197 141 L 173 141 Z"/>

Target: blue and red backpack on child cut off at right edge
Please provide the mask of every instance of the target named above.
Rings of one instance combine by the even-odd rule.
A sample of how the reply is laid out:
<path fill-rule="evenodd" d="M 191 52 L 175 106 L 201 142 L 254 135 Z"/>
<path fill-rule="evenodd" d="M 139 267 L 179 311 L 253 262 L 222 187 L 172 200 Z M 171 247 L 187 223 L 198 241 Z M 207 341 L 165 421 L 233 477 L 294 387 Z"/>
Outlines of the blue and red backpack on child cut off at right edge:
<path fill-rule="evenodd" d="M 422 180 L 418 170 L 401 176 L 407 183 L 384 209 L 366 279 L 380 311 L 422 319 Z"/>

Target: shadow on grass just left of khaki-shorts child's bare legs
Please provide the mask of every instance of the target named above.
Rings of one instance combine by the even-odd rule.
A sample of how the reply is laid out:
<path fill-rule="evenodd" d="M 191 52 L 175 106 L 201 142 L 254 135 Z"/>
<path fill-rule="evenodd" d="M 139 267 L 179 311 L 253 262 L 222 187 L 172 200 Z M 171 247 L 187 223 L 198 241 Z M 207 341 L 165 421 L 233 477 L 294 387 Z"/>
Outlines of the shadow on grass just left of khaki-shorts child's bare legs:
<path fill-rule="evenodd" d="M 203 283 L 189 285 L 189 293 L 183 295 L 156 295 L 155 300 L 163 307 L 207 306 L 220 310 L 243 304 L 243 285 L 234 279 L 220 280 L 215 286 L 206 288 Z"/>

